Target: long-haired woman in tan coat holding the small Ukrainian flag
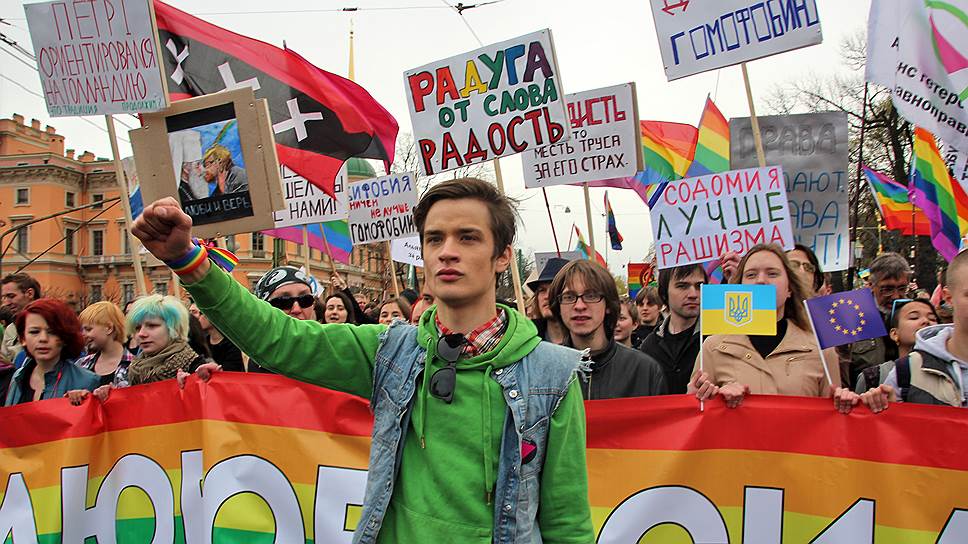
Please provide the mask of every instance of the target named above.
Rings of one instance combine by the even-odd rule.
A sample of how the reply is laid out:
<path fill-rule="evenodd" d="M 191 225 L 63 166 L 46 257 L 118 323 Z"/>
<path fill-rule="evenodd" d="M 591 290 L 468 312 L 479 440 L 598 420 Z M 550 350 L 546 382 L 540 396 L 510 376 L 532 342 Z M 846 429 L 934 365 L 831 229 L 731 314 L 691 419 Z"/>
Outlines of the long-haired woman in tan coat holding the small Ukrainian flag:
<path fill-rule="evenodd" d="M 702 347 L 689 392 L 700 400 L 719 394 L 735 408 L 747 394 L 830 397 L 840 386 L 840 374 L 825 368 L 813 328 L 803 306 L 804 288 L 783 250 L 774 244 L 750 248 L 733 281 L 776 287 L 775 336 L 713 335 Z M 833 349 L 827 364 L 837 364 Z"/>

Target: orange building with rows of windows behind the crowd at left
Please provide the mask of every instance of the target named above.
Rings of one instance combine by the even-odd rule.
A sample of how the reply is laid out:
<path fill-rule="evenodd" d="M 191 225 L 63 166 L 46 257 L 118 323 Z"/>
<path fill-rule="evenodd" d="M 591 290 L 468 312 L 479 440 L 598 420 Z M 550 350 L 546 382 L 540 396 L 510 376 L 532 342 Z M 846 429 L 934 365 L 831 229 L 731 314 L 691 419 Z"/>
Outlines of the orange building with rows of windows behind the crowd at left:
<path fill-rule="evenodd" d="M 105 135 L 105 138 L 107 136 Z M 146 292 L 175 293 L 171 272 L 129 243 L 114 162 L 65 148 L 54 127 L 41 128 L 14 114 L 0 119 L 0 273 L 23 271 L 37 278 L 45 295 L 77 309 L 98 300 L 119 304 L 137 296 L 134 258 L 142 261 Z M 76 156 L 75 156 L 76 155 Z M 376 175 L 365 160 L 350 159 L 350 180 Z M 90 207 L 81 208 L 83 206 Z M 28 226 L 14 230 L 20 225 Z M 219 240 L 239 257 L 235 278 L 248 288 L 273 262 L 307 266 L 328 284 L 333 264 L 316 249 L 261 233 Z M 308 257 L 308 262 L 307 262 Z M 351 287 L 372 300 L 392 291 L 384 244 L 353 248 L 350 264 L 336 269 Z"/>

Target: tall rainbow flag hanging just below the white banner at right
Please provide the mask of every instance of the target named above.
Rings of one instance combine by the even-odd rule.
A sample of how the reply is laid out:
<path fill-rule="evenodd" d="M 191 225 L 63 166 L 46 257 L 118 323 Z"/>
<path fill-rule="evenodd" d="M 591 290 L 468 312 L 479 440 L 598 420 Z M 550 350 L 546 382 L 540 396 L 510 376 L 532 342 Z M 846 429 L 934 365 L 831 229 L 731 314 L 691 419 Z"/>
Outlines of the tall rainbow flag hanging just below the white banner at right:
<path fill-rule="evenodd" d="M 968 195 L 948 173 L 934 135 L 921 127 L 914 130 L 911 189 L 914 204 L 931 222 L 931 243 L 951 262 L 968 232 Z"/>

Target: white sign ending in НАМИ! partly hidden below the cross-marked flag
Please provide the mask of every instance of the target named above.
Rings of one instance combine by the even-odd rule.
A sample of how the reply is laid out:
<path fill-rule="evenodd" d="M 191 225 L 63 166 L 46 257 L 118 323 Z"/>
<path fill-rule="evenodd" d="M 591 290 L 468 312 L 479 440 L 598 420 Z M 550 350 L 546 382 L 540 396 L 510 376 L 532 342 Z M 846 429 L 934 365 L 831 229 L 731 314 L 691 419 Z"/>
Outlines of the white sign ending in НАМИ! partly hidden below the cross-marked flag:
<path fill-rule="evenodd" d="M 336 174 L 335 199 L 285 165 L 281 167 L 280 173 L 286 206 L 281 210 L 272 212 L 272 218 L 275 221 L 274 228 L 325 223 L 346 218 L 347 179 L 345 164 Z"/>

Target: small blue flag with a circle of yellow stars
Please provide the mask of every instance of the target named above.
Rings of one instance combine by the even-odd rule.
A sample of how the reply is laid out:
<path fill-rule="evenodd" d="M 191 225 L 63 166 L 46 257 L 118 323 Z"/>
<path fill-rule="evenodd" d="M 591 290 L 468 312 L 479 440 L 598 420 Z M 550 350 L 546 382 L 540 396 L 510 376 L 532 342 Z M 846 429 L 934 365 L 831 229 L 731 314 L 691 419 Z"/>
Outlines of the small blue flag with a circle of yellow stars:
<path fill-rule="evenodd" d="M 807 301 L 820 349 L 887 336 L 870 289 L 834 293 Z"/>

